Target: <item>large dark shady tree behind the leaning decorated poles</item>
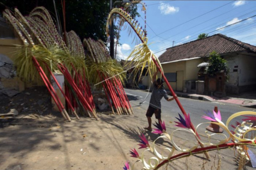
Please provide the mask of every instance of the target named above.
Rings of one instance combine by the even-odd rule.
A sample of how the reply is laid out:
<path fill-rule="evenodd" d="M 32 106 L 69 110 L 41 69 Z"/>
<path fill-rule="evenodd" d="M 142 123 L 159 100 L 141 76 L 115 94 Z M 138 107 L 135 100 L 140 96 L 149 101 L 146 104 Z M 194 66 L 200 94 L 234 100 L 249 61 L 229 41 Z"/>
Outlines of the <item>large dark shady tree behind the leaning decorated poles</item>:
<path fill-rule="evenodd" d="M 114 3 L 120 7 L 120 3 Z M 55 0 L 56 10 L 60 17 L 63 30 L 63 13 L 61 0 Z M 0 12 L 5 8 L 18 8 L 22 15 L 28 15 L 37 6 L 44 6 L 56 20 L 53 0 L 1 0 Z M 106 22 L 109 14 L 109 0 L 65 0 L 66 31 L 74 30 L 81 39 L 91 37 L 95 40 L 101 39 L 106 42 Z M 137 13 L 137 5 L 129 7 L 132 17 L 140 16 Z M 115 27 L 115 32 L 117 27 Z M 115 34 L 116 36 L 116 34 Z"/>

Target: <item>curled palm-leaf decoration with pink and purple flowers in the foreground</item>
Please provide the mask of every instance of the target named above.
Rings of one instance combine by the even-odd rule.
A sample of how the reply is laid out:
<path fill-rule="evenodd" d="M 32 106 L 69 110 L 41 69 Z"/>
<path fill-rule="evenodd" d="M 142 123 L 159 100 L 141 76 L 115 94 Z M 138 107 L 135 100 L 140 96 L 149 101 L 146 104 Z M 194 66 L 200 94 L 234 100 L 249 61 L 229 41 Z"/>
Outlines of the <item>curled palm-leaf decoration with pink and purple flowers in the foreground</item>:
<path fill-rule="evenodd" d="M 243 123 L 241 123 L 238 126 L 234 126 L 235 128 L 235 132 L 229 130 L 229 124 L 230 122 L 235 119 L 238 116 L 245 116 L 249 117 L 247 120 L 243 121 Z M 249 116 L 248 116 L 249 115 Z M 138 169 L 136 167 L 142 167 L 141 169 L 143 170 L 155 170 L 155 169 L 161 169 L 161 167 L 164 167 L 164 165 L 180 159 L 180 158 L 184 158 L 184 157 L 189 157 L 191 155 L 195 155 L 195 154 L 200 154 L 200 153 L 205 153 L 207 151 L 213 151 L 213 150 L 220 150 L 220 149 L 228 149 L 228 148 L 236 148 L 236 151 L 238 154 L 236 156 L 237 159 L 237 163 L 238 163 L 238 169 L 242 170 L 244 168 L 245 163 L 247 163 L 249 161 L 249 156 L 248 156 L 248 147 L 250 146 L 251 149 L 255 149 L 255 142 L 256 142 L 256 136 L 255 136 L 255 132 L 256 132 L 256 125 L 252 126 L 253 124 L 255 124 L 255 120 L 256 120 L 256 112 L 252 112 L 252 111 L 242 111 L 242 112 L 237 112 L 232 114 L 226 124 L 224 124 L 221 120 L 215 118 L 215 122 L 207 122 L 207 123 L 201 123 L 199 125 L 197 125 L 196 130 L 198 129 L 199 126 L 203 125 L 203 124 L 211 124 L 214 123 L 216 125 L 219 125 L 221 128 L 223 128 L 223 130 L 226 132 L 225 134 L 220 134 L 220 133 L 213 133 L 213 134 L 207 134 L 207 138 L 208 138 L 208 142 L 202 141 L 199 138 L 197 138 L 196 136 L 196 131 L 194 132 L 193 130 L 191 130 L 191 128 L 186 124 L 187 121 L 190 119 L 183 119 L 182 117 L 180 117 L 180 122 L 177 122 L 178 127 L 184 127 L 184 129 L 176 129 L 174 131 L 172 131 L 171 133 L 168 133 L 166 131 L 166 126 L 163 123 L 157 124 L 156 123 L 156 128 L 153 129 L 153 133 L 157 133 L 157 134 L 161 134 L 161 136 L 159 136 L 156 140 L 154 140 L 152 143 L 150 143 L 146 137 L 144 136 L 144 134 L 141 134 L 140 139 L 140 148 L 139 149 L 144 149 L 142 151 L 141 154 L 139 154 L 139 152 L 136 149 L 132 149 L 130 151 L 130 154 L 132 157 L 137 158 L 137 160 L 134 163 L 131 163 L 129 165 L 129 163 L 126 163 L 124 165 L 124 167 L 126 167 L 129 170 L 134 170 L 134 169 Z M 200 141 L 201 143 L 203 143 L 203 145 L 205 147 L 202 148 L 198 148 L 198 142 L 192 141 L 192 140 L 188 140 L 190 146 L 189 147 L 185 147 L 182 148 L 180 147 L 181 143 L 180 140 L 175 141 L 174 140 L 174 136 L 177 134 L 181 134 L 182 131 L 186 131 L 187 133 L 191 133 L 193 134 L 198 141 Z M 251 133 L 254 134 L 251 137 L 248 138 L 248 136 L 246 134 Z M 188 135 L 188 134 L 187 134 Z M 222 140 L 218 140 L 217 136 L 220 135 L 222 136 Z M 213 136 L 216 136 L 215 138 L 213 138 Z M 165 140 L 167 141 L 167 143 L 171 143 L 171 147 L 158 147 L 157 146 L 157 141 L 158 140 Z M 186 139 L 187 141 L 187 139 Z M 148 153 L 151 153 L 151 156 L 148 157 Z M 146 158 L 147 157 L 147 158 Z M 252 157 L 253 158 L 253 157 Z M 217 169 L 220 169 L 220 158 L 218 158 L 218 167 Z M 187 165 L 186 165 L 187 166 Z M 205 165 L 202 165 L 202 169 L 204 169 Z"/>

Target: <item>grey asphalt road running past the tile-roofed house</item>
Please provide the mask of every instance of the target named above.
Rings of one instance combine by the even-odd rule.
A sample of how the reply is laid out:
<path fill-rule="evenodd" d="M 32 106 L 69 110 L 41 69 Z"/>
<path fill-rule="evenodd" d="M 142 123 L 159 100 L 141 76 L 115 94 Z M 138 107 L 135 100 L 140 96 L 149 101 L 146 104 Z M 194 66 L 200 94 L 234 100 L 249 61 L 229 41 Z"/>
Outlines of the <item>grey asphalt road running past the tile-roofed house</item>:
<path fill-rule="evenodd" d="M 145 125 L 147 125 L 145 114 L 149 105 L 151 93 L 148 93 L 142 90 L 132 90 L 132 89 L 125 89 L 125 91 L 127 93 L 127 96 L 133 108 L 139 108 L 139 113 L 135 113 L 135 114 L 139 115 L 140 119 L 144 119 Z M 224 124 L 226 123 L 227 119 L 236 112 L 255 111 L 254 108 L 245 108 L 235 104 L 214 103 L 214 102 L 208 102 L 208 101 L 202 101 L 202 100 L 196 100 L 196 99 L 190 99 L 190 98 L 182 98 L 182 97 L 178 97 L 178 100 L 180 101 L 186 113 L 190 114 L 191 122 L 195 127 L 200 123 L 209 122 L 209 120 L 202 118 L 202 116 L 206 115 L 205 112 L 207 110 L 212 112 L 215 106 L 217 106 L 218 110 L 220 110 L 222 121 Z M 175 117 L 178 117 L 178 113 L 183 115 L 176 101 L 174 100 L 174 101 L 168 102 L 164 98 L 162 98 L 161 105 L 162 105 L 162 108 L 161 108 L 162 120 L 164 120 L 167 123 L 168 122 L 173 123 L 171 125 L 175 125 L 174 121 L 177 121 Z M 237 117 L 233 119 L 231 121 L 231 124 L 235 125 L 236 121 L 242 123 L 242 120 L 241 120 L 242 118 L 243 117 Z M 153 116 L 152 122 L 154 123 L 155 120 L 156 119 Z M 173 128 L 173 126 L 171 125 L 169 126 L 167 125 L 167 127 Z M 201 130 L 201 132 L 204 132 L 206 126 L 208 126 L 208 124 L 206 124 L 205 126 L 200 126 L 198 130 Z M 234 130 L 230 126 L 228 128 L 229 130 Z M 224 134 L 227 134 L 227 133 L 224 132 Z"/>

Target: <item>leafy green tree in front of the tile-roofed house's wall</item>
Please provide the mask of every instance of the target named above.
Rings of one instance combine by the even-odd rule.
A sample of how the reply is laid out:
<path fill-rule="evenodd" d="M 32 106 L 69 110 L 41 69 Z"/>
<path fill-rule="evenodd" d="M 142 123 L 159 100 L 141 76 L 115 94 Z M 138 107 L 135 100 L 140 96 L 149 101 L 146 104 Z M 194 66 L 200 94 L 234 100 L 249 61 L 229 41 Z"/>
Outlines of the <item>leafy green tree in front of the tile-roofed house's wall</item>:
<path fill-rule="evenodd" d="M 209 66 L 206 68 L 206 73 L 213 76 L 215 73 L 224 72 L 226 78 L 228 78 L 229 68 L 227 66 L 227 61 L 221 58 L 220 54 L 217 54 L 216 51 L 210 53 L 209 57 Z"/>

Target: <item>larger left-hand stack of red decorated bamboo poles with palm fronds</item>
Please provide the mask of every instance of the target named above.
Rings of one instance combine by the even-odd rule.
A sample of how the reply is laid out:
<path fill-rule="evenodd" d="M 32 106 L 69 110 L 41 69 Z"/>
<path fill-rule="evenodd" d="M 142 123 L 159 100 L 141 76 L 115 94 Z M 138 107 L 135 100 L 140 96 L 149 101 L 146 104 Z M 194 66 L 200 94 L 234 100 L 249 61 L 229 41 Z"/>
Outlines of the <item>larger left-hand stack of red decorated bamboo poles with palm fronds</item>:
<path fill-rule="evenodd" d="M 22 16 L 18 9 L 8 9 L 3 16 L 18 32 L 25 47 L 18 51 L 15 64 L 18 76 L 25 81 L 42 80 L 62 116 L 70 121 L 68 112 L 61 103 L 49 81 L 51 75 L 65 96 L 68 111 L 79 119 L 78 113 L 98 119 L 88 83 L 85 54 L 79 37 L 74 31 L 67 33 L 67 44 L 58 34 L 56 26 L 44 7 L 36 7 L 29 16 Z M 65 91 L 52 72 L 59 71 L 65 77 Z M 87 77 L 87 78 L 86 78 Z"/>

